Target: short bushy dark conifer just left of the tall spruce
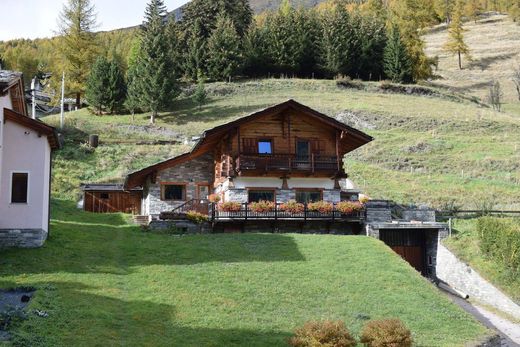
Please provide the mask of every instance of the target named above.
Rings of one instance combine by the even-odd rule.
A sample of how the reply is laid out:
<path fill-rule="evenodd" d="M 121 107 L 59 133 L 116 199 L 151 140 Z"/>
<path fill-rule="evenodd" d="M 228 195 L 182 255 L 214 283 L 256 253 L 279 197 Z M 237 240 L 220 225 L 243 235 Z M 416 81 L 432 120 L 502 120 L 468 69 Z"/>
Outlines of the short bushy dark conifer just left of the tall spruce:
<path fill-rule="evenodd" d="M 109 86 L 110 63 L 104 56 L 96 59 L 92 65 L 86 83 L 86 98 L 97 114 L 101 114 L 108 105 L 109 96 L 107 93 Z"/>

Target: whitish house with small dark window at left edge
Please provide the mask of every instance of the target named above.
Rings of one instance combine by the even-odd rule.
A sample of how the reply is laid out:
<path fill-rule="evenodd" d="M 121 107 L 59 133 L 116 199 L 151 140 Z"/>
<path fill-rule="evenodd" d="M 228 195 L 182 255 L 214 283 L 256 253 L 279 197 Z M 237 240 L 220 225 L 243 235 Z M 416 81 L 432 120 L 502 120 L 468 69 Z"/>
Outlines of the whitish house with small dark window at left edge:
<path fill-rule="evenodd" d="M 22 74 L 0 70 L 0 248 L 39 247 L 49 233 L 55 129 L 31 119 Z"/>

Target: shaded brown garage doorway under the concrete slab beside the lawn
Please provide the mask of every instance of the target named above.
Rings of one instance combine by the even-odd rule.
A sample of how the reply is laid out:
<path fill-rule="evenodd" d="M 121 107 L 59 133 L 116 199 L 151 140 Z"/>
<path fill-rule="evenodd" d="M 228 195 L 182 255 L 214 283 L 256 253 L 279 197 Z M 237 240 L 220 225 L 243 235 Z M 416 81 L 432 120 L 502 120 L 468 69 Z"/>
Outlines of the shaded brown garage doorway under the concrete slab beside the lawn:
<path fill-rule="evenodd" d="M 426 274 L 426 236 L 424 230 L 382 229 L 379 238 L 421 274 Z"/>

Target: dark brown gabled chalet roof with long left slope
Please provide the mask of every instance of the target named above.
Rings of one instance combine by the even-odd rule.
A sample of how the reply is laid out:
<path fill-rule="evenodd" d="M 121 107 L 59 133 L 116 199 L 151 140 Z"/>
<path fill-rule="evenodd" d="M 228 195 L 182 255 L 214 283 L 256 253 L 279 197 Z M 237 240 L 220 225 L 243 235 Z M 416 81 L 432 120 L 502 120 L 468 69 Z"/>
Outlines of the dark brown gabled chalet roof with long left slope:
<path fill-rule="evenodd" d="M 206 152 L 211 151 L 212 148 L 214 148 L 215 145 L 222 139 L 222 136 L 225 135 L 230 129 L 233 129 L 241 124 L 250 122 L 256 119 L 257 117 L 271 114 L 279 114 L 289 109 L 302 112 L 308 116 L 316 118 L 321 122 L 332 126 L 333 128 L 336 128 L 342 132 L 351 135 L 351 141 L 349 141 L 348 147 L 345 148 L 346 153 L 351 152 L 356 148 L 359 148 L 373 140 L 371 136 L 365 134 L 364 132 L 354 129 L 344 123 L 337 121 L 332 117 L 329 117 L 323 113 L 313 110 L 312 108 L 302 105 L 291 99 L 281 104 L 265 108 L 248 116 L 206 130 L 195 143 L 190 152 L 183 153 L 179 156 L 167 159 L 165 161 L 161 161 L 157 164 L 128 174 L 125 180 L 124 187 L 125 189 L 128 189 L 138 185 L 142 185 L 144 183 L 145 178 L 156 171 L 169 168 L 171 166 L 180 164 L 182 162 L 196 158 Z"/>

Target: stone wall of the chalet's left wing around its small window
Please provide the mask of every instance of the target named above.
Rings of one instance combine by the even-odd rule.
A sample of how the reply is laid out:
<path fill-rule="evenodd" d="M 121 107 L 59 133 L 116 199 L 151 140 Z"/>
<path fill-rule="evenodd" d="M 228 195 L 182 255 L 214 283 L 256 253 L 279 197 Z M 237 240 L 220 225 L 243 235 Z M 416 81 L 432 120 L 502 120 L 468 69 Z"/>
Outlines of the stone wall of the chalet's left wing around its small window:
<path fill-rule="evenodd" d="M 213 182 L 213 166 L 213 155 L 207 153 L 193 160 L 160 171 L 157 175 L 156 183 L 151 183 L 147 187 L 149 214 L 157 216 L 161 212 L 171 211 L 185 203 L 185 201 L 161 200 L 161 182 L 186 184 L 186 201 L 189 201 L 196 198 L 197 183 L 211 184 Z"/>

